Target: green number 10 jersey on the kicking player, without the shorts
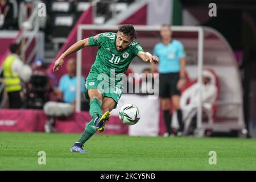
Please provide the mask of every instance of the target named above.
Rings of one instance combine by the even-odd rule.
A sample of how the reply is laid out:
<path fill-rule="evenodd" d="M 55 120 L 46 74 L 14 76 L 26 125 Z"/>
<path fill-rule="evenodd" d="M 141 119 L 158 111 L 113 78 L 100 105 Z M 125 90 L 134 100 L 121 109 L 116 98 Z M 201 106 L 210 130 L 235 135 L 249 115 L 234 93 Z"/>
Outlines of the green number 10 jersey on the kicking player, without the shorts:
<path fill-rule="evenodd" d="M 123 51 L 117 51 L 115 48 L 116 39 L 117 34 L 113 32 L 105 32 L 89 38 L 90 46 L 98 46 L 97 57 L 90 73 L 106 73 L 110 76 L 110 70 L 113 72 L 113 69 L 115 75 L 125 73 L 138 52 L 143 51 L 136 41 L 131 42 L 129 47 Z"/>

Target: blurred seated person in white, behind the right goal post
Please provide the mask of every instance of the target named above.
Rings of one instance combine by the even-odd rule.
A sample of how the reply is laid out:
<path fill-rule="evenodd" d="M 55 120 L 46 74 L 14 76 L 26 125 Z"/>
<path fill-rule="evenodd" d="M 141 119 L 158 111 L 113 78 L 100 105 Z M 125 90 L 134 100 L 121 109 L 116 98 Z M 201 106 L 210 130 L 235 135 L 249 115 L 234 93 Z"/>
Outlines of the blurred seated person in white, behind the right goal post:
<path fill-rule="evenodd" d="M 210 71 L 203 71 L 203 84 L 201 85 L 202 90 L 202 106 L 203 106 L 203 119 L 207 122 L 212 119 L 212 106 L 216 101 L 217 97 L 217 86 L 216 80 L 213 73 Z M 199 107 L 199 95 L 200 94 L 200 85 L 197 82 L 189 86 L 186 89 L 180 98 L 180 107 L 184 113 L 184 122 L 188 130 L 185 132 L 188 135 L 193 134 L 193 131 L 196 129 L 196 113 L 197 108 Z"/>

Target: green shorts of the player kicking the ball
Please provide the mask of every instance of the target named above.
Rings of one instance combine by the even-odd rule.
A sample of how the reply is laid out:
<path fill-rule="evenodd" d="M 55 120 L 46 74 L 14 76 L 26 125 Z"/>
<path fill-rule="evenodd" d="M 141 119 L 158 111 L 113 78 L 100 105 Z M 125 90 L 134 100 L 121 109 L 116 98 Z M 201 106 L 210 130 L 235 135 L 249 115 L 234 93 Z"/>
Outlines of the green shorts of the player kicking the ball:
<path fill-rule="evenodd" d="M 102 97 L 110 97 L 116 102 L 114 108 L 117 107 L 117 103 L 122 96 L 122 85 L 115 86 L 115 84 L 110 83 L 108 78 L 102 78 L 101 80 L 98 78 L 98 74 L 89 73 L 88 77 L 85 78 L 85 98 L 88 100 L 88 90 L 89 89 L 100 89 L 102 93 Z"/>

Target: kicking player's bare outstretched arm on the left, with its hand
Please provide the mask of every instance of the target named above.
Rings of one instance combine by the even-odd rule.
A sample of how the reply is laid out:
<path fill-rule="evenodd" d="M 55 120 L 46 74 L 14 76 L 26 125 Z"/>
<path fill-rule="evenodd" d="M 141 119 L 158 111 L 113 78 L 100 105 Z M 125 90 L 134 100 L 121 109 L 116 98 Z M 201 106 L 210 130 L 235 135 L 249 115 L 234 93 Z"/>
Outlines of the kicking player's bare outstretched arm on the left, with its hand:
<path fill-rule="evenodd" d="M 71 47 L 67 49 L 56 61 L 53 67 L 53 72 L 59 70 L 59 68 L 63 65 L 65 57 L 71 55 L 72 53 L 79 51 L 81 48 L 89 46 L 89 38 L 84 40 L 80 40 L 76 42 Z"/>

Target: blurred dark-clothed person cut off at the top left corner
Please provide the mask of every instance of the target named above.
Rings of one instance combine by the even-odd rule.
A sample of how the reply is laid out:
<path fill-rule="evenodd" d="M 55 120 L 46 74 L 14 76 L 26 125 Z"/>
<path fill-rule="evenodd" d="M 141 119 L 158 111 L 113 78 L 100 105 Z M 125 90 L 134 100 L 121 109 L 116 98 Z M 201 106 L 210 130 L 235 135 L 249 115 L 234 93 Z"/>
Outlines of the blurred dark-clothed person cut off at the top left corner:
<path fill-rule="evenodd" d="M 7 0 L 0 0 L 0 30 L 12 29 L 13 24 L 13 5 Z"/>

